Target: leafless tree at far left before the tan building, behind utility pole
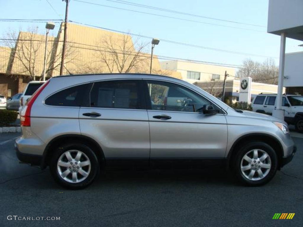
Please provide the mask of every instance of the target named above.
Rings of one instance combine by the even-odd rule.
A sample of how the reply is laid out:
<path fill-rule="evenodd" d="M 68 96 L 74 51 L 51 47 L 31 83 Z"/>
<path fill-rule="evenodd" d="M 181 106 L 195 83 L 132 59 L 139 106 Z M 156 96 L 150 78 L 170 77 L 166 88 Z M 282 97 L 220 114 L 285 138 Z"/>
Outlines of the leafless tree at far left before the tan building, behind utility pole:
<path fill-rule="evenodd" d="M 45 36 L 37 34 L 36 28 L 29 28 L 27 32 L 21 29 L 18 35 L 15 31 L 9 30 L 5 34 L 5 46 L 10 48 L 10 62 L 8 73 L 23 74 L 29 78 L 36 80 L 43 74 Z M 71 55 L 75 51 L 67 48 L 66 58 L 73 61 Z M 46 74 L 52 76 L 52 71 L 60 66 L 62 50 L 58 49 L 58 39 L 49 37 L 48 47 L 46 51 Z"/>

